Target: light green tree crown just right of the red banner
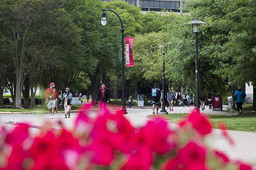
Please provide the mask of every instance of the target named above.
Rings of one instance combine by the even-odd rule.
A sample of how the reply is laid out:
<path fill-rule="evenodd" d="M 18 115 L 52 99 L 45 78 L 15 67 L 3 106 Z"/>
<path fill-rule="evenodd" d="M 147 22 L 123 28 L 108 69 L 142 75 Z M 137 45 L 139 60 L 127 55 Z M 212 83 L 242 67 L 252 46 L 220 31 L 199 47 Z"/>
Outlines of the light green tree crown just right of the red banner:
<path fill-rule="evenodd" d="M 155 82 L 162 80 L 163 55 L 158 48 L 164 39 L 164 34 L 137 34 L 134 37 L 133 59 L 134 67 L 126 68 L 126 79 L 133 82 L 144 80 L 152 87 Z"/>

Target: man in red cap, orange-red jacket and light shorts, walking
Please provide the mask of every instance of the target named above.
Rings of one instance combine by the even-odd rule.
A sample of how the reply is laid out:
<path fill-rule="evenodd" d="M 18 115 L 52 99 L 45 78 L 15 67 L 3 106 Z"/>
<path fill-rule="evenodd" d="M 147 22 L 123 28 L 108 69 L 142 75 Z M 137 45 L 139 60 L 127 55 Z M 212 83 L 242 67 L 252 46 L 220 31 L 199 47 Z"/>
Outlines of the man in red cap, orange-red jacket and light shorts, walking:
<path fill-rule="evenodd" d="M 45 91 L 45 97 L 48 100 L 47 107 L 50 111 L 51 118 L 53 118 L 54 108 L 56 107 L 56 99 L 58 98 L 57 90 L 54 87 L 55 84 L 51 83 L 49 88 Z"/>

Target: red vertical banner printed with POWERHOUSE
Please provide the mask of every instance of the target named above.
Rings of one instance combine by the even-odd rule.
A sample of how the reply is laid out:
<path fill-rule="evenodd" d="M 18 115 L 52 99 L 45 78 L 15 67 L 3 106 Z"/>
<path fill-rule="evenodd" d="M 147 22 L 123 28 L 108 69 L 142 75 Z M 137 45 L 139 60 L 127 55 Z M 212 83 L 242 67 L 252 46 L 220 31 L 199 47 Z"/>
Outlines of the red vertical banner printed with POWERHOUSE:
<path fill-rule="evenodd" d="M 133 37 L 125 37 L 125 63 L 126 63 L 126 67 L 134 67 Z"/>

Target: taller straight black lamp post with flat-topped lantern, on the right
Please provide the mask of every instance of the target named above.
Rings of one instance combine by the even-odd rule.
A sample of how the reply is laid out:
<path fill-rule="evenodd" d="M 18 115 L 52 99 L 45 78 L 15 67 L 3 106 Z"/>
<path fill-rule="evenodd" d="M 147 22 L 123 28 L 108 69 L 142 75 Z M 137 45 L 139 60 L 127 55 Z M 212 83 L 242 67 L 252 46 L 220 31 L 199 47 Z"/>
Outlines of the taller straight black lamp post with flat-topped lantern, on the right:
<path fill-rule="evenodd" d="M 205 24 L 204 22 L 200 21 L 199 18 L 193 18 L 192 21 L 187 23 L 188 25 L 192 26 L 193 28 L 193 33 L 195 33 L 195 37 L 196 37 L 196 109 L 197 111 L 200 110 L 199 106 L 199 72 L 198 72 L 198 44 L 197 44 L 197 37 L 198 37 L 198 33 L 200 33 L 200 29 L 199 26 L 201 24 Z"/>

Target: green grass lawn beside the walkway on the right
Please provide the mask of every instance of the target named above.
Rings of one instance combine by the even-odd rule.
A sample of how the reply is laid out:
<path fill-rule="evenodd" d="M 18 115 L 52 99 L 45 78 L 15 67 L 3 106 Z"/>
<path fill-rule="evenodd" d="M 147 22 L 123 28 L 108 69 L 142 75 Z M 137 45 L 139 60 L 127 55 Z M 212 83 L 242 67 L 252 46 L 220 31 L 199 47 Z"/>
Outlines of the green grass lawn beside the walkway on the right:
<path fill-rule="evenodd" d="M 256 112 L 252 112 L 252 104 L 243 105 L 243 114 L 240 115 L 208 115 L 215 129 L 218 129 L 218 124 L 224 122 L 228 130 L 245 131 L 256 133 Z M 230 109 L 229 109 L 230 112 Z M 235 111 L 237 112 L 237 111 Z M 162 114 L 164 119 L 171 120 L 171 123 L 177 124 L 179 120 L 187 113 Z M 153 118 L 158 115 L 149 115 L 148 118 Z"/>

